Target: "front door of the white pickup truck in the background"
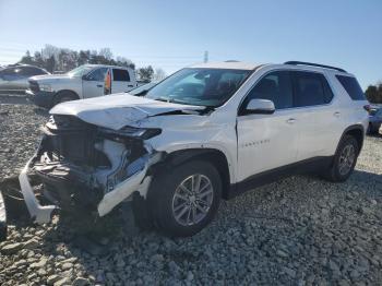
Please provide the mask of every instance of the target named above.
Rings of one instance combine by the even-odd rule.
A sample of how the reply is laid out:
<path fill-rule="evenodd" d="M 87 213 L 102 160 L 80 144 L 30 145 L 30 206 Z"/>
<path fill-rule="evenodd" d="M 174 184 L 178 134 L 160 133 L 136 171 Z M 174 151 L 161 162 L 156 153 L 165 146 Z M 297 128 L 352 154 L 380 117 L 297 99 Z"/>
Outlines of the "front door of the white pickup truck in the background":
<path fill-rule="evenodd" d="M 82 80 L 82 94 L 84 98 L 97 97 L 104 95 L 105 76 L 107 68 L 98 68 L 91 71 Z"/>

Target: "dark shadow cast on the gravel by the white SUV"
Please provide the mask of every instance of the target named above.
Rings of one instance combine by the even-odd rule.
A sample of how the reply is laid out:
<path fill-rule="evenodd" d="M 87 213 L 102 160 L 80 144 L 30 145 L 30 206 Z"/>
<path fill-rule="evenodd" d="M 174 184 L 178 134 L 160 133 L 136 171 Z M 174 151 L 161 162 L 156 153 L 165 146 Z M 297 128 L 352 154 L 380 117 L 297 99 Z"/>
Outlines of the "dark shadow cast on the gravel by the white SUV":
<path fill-rule="evenodd" d="M 342 275 L 334 273 L 335 266 L 331 269 L 330 253 L 341 253 L 341 259 L 332 260 L 346 271 L 349 267 L 349 272 L 353 266 L 347 266 L 347 259 L 358 263 L 362 257 L 353 257 L 354 250 L 346 242 L 358 226 L 346 223 L 349 213 L 338 216 L 338 212 L 348 212 L 348 201 L 357 201 L 357 207 L 361 207 L 375 199 L 382 203 L 381 176 L 355 170 L 344 183 L 296 176 L 223 202 L 212 225 L 191 238 L 171 239 L 156 231 L 139 231 L 126 219 L 126 207 L 98 224 L 81 214 L 63 213 L 44 226 L 32 226 L 21 218 L 11 218 L 11 224 L 16 228 L 36 227 L 34 233 L 40 241 L 37 253 L 56 258 L 58 264 L 70 258 L 76 270 L 97 283 L 108 284 L 110 277 L 119 275 L 131 281 L 152 274 L 164 281 L 182 281 L 192 270 L 194 278 L 203 284 L 199 273 L 204 269 L 219 273 L 216 279 L 296 285 L 313 275 L 312 282 L 320 284 Z M 357 217 L 369 215 L 363 208 L 354 212 Z M 372 267 L 370 271 L 374 271 Z M 140 272 L 143 274 L 138 275 Z M 366 277 L 362 275 L 360 272 L 359 279 Z"/>

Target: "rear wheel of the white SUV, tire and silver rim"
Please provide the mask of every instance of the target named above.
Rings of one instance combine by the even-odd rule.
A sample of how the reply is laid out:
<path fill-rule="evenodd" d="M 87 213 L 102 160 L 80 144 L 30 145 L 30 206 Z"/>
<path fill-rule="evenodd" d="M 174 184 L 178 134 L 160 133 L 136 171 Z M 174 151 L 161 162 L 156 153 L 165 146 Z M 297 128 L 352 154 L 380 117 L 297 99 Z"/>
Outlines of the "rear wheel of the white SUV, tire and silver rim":
<path fill-rule="evenodd" d="M 343 182 L 351 175 L 359 154 L 357 140 L 345 135 L 339 142 L 330 169 L 324 174 L 325 179 L 332 182 Z"/>

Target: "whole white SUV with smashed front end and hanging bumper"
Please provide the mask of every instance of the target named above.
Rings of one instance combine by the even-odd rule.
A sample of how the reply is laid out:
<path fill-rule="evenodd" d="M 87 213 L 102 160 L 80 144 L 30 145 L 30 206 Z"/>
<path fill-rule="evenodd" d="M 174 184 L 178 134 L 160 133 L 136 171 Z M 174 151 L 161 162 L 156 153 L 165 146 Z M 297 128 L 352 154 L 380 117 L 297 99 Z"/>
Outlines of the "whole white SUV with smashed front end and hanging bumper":
<path fill-rule="evenodd" d="M 329 65 L 186 68 L 143 96 L 56 106 L 20 175 L 22 192 L 38 223 L 56 207 L 104 216 L 130 200 L 139 225 L 192 236 L 222 198 L 297 172 L 346 180 L 362 147 L 367 104 L 355 76 Z M 28 174 L 52 205 L 36 200 Z"/>

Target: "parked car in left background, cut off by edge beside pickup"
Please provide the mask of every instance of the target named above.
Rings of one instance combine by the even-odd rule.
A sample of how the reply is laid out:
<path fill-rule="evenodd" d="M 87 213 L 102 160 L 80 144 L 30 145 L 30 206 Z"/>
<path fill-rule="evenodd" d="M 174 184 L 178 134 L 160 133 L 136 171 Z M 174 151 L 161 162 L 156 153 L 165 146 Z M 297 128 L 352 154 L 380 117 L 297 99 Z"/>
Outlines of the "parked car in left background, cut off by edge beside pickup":
<path fill-rule="evenodd" d="M 0 93 L 25 92 L 28 79 L 34 75 L 49 74 L 46 70 L 27 64 L 8 67 L 0 70 Z"/>

